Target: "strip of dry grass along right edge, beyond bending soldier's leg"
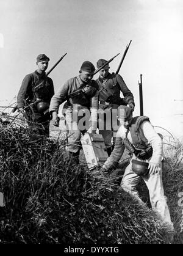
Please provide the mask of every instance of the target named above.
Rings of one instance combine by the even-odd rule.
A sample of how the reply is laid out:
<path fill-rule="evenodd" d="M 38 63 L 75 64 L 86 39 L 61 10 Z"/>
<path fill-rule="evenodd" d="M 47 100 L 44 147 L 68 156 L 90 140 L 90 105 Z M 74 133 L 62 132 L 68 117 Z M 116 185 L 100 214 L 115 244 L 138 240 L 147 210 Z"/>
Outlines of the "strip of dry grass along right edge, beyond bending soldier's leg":
<path fill-rule="evenodd" d="M 179 205 L 179 192 L 183 192 L 183 148 L 182 143 L 175 140 L 172 145 L 165 144 L 165 159 L 163 163 L 163 185 L 165 194 L 168 198 L 168 206 L 174 223 L 176 235 L 174 243 L 183 243 L 183 230 L 181 222 L 183 221 L 183 205 Z"/>

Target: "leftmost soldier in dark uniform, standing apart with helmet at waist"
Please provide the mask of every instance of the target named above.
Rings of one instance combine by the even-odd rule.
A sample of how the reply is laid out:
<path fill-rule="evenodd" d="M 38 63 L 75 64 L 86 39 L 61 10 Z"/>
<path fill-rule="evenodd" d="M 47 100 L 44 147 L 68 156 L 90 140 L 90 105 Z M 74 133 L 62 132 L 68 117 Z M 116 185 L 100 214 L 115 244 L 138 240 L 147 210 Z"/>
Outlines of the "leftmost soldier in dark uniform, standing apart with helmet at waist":
<path fill-rule="evenodd" d="M 17 96 L 17 108 L 35 133 L 49 136 L 49 103 L 54 95 L 52 79 L 46 76 L 49 57 L 37 56 L 37 70 L 25 76 Z"/>

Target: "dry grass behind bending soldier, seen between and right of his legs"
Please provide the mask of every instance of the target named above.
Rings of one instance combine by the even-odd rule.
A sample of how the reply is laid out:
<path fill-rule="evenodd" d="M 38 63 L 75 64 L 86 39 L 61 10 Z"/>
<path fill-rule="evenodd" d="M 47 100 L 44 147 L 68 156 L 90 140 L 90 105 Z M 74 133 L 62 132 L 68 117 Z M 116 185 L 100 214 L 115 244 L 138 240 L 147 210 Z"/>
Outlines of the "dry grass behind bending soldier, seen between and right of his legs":
<path fill-rule="evenodd" d="M 163 137 L 163 188 L 167 197 L 167 204 L 170 209 L 171 221 L 174 224 L 175 244 L 183 243 L 183 229 L 181 230 L 181 222 L 183 223 L 183 204 L 180 206 L 178 202 L 183 198 L 183 145 L 182 142 L 174 137 Z M 119 184 L 124 173 L 124 169 L 120 170 Z M 140 182 L 138 191 L 143 202 L 151 208 L 149 201 L 148 188 L 145 183 Z M 179 194 L 182 192 L 182 195 Z M 182 203 L 182 201 L 180 202 Z M 182 225 L 183 227 L 183 225 Z"/>

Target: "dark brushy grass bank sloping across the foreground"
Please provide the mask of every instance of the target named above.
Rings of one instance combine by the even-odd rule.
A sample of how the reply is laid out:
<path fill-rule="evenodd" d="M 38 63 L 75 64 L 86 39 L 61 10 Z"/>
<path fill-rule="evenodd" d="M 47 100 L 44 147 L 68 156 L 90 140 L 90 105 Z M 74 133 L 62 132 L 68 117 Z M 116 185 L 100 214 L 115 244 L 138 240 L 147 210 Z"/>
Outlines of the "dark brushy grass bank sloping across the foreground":
<path fill-rule="evenodd" d="M 74 166 L 64 145 L 0 124 L 1 243 L 168 243 L 118 177 Z"/>

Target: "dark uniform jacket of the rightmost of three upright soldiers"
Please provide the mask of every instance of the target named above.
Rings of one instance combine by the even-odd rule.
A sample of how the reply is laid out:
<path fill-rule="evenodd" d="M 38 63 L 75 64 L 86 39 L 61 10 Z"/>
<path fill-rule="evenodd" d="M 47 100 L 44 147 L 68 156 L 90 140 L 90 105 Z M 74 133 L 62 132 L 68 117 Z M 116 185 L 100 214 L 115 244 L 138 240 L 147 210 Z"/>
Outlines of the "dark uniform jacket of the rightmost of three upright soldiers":
<path fill-rule="evenodd" d="M 120 98 L 120 92 L 122 92 L 126 104 L 133 103 L 135 106 L 134 96 L 119 74 L 109 73 L 104 80 L 99 76 L 96 82 L 99 85 L 99 101 L 107 101 L 110 97 L 112 98 L 110 103 L 116 104 L 115 100 Z"/>

